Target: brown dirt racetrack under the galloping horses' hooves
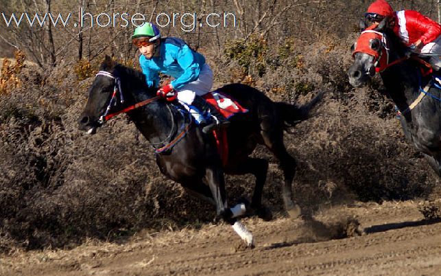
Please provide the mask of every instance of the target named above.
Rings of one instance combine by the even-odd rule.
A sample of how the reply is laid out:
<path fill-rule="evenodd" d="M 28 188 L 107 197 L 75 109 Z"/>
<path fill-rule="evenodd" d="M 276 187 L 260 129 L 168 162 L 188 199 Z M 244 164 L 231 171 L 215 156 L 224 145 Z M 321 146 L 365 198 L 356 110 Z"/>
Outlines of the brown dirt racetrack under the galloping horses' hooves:
<path fill-rule="evenodd" d="M 228 225 L 205 225 L 17 253 L 0 260 L 0 275 L 440 275 L 441 223 L 424 220 L 418 210 L 425 204 L 355 203 L 319 211 L 308 222 L 243 220 L 255 249 L 238 249 Z M 346 227 L 354 219 L 365 233 Z"/>

